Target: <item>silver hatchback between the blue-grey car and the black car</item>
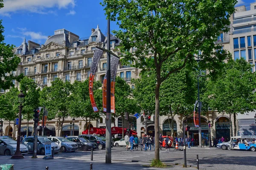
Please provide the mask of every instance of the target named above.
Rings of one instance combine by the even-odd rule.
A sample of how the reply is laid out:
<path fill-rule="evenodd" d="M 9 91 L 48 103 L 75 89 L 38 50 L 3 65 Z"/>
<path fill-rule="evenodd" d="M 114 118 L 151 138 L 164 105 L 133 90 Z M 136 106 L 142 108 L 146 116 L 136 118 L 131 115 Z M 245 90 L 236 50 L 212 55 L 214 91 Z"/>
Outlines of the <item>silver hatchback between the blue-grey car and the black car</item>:
<path fill-rule="evenodd" d="M 71 142 L 64 137 L 50 136 L 47 138 L 55 142 L 55 144 L 60 147 L 61 152 L 75 152 L 78 149 L 78 146 L 75 142 Z"/>

